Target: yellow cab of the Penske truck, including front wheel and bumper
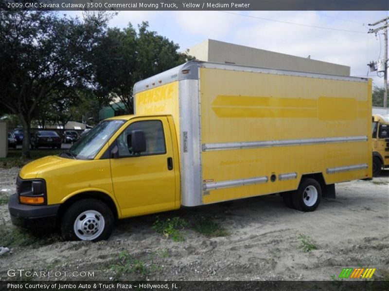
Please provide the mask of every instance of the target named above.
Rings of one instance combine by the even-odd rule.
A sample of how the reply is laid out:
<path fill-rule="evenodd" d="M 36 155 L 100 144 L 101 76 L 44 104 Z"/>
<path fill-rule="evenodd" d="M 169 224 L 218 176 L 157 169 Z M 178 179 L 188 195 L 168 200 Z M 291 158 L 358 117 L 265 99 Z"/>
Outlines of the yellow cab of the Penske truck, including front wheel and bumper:
<path fill-rule="evenodd" d="M 9 211 L 18 226 L 59 227 L 67 240 L 107 239 L 115 219 L 180 207 L 169 115 L 101 121 L 58 156 L 25 165 Z"/>

